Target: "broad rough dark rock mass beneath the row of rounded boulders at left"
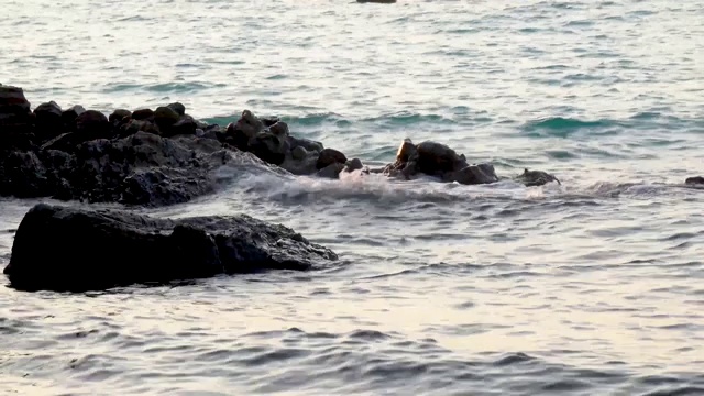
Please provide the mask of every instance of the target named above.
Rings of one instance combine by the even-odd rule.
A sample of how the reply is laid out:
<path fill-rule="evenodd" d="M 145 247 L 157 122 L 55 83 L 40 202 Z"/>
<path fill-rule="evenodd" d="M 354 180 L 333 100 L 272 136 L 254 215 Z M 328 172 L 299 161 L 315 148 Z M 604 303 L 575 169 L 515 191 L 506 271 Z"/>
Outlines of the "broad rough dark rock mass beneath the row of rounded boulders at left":
<path fill-rule="evenodd" d="M 237 153 L 136 132 L 119 140 L 76 144 L 72 133 L 37 154 L 16 151 L 0 158 L 0 195 L 89 202 L 163 206 L 213 191 L 211 170 Z M 210 141 L 210 140 L 208 140 Z M 219 148 L 219 144 L 217 144 Z"/>

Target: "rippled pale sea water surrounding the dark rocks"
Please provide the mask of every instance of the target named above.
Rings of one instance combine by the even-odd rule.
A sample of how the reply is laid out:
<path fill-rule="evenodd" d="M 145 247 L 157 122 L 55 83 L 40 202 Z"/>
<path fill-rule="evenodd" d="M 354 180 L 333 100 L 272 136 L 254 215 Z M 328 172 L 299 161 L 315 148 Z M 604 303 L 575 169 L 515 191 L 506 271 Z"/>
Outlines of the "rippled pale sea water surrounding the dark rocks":
<path fill-rule="evenodd" d="M 2 277 L 0 393 L 704 395 L 701 1 L 0 6 L 0 82 L 33 106 L 250 109 L 367 164 L 430 139 L 562 182 L 226 167 L 142 211 L 248 213 L 340 263 L 78 295 Z M 37 201 L 0 201 L 0 266 Z"/>

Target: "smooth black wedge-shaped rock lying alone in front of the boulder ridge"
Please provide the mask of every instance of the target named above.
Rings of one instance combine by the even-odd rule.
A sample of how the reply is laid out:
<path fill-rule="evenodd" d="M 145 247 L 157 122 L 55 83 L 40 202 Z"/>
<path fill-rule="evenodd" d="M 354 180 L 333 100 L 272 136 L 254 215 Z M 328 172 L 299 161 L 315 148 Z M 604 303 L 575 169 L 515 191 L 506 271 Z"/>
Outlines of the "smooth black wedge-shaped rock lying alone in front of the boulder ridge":
<path fill-rule="evenodd" d="M 309 270 L 334 252 L 249 216 L 156 219 L 121 210 L 33 207 L 18 228 L 13 287 L 84 292 L 266 270 Z"/>

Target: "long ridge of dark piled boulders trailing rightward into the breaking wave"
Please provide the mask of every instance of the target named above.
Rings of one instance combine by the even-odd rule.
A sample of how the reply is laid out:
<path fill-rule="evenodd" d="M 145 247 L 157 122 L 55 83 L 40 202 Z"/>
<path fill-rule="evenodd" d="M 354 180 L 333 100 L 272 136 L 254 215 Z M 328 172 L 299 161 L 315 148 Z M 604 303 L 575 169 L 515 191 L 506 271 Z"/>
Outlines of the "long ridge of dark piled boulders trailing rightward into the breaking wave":
<path fill-rule="evenodd" d="M 110 116 L 54 101 L 34 110 L 21 88 L 0 86 L 0 196 L 163 206 L 213 191 L 212 170 L 239 155 L 294 175 L 337 178 L 343 172 L 443 182 L 499 180 L 491 164 L 470 164 L 437 142 L 402 142 L 396 162 L 371 169 L 359 158 L 290 134 L 276 118 L 244 110 L 227 127 L 208 124 L 175 102 L 156 109 L 118 109 Z M 558 182 L 526 169 L 527 186 Z M 559 182 L 558 182 L 559 183 Z"/>

